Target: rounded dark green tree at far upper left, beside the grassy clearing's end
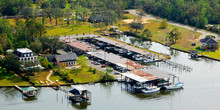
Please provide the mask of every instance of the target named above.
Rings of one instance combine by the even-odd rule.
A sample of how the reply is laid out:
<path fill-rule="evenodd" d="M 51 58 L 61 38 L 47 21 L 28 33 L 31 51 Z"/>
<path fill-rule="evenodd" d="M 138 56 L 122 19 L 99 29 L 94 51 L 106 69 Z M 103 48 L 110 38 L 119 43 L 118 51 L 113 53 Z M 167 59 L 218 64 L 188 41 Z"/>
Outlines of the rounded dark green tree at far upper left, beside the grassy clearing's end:
<path fill-rule="evenodd" d="M 26 19 L 26 22 L 28 22 L 28 20 L 33 17 L 33 9 L 30 7 L 24 7 L 21 11 L 21 14 L 23 15 L 24 19 Z"/>

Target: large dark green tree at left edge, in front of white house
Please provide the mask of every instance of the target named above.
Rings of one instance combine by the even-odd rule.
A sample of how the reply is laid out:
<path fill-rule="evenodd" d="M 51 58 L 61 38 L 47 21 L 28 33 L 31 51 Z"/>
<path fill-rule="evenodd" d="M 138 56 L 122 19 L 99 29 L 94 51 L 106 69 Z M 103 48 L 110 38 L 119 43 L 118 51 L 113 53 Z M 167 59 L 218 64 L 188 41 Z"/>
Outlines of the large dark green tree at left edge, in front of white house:
<path fill-rule="evenodd" d="M 6 55 L 1 61 L 1 67 L 6 68 L 7 72 L 14 71 L 15 73 L 21 72 L 20 62 L 17 60 L 15 55 Z"/>

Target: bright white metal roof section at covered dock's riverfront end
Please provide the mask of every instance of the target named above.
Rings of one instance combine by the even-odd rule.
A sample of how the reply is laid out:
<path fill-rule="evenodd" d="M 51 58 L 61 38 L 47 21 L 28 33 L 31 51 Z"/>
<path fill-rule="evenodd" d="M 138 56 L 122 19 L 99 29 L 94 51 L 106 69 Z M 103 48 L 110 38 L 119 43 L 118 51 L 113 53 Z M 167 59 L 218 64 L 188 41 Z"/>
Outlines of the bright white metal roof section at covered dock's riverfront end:
<path fill-rule="evenodd" d="M 143 77 L 140 77 L 140 76 L 138 76 L 138 75 L 135 75 L 135 74 L 132 74 L 132 73 L 130 73 L 130 72 L 127 72 L 127 73 L 121 73 L 123 76 L 126 76 L 126 77 L 128 77 L 128 78 L 130 78 L 130 79 L 133 79 L 133 80 L 135 80 L 135 81 L 138 81 L 138 82 L 140 82 L 140 83 L 144 83 L 144 82 L 147 82 L 148 80 L 147 79 L 145 79 L 145 78 L 143 78 Z"/>

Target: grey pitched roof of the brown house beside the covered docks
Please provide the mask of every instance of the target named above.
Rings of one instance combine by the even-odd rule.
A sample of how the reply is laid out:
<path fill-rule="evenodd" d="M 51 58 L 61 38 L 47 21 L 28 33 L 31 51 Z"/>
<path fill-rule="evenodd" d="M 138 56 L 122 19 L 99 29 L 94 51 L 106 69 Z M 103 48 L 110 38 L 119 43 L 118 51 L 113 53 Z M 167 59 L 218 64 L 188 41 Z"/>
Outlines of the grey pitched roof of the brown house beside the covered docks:
<path fill-rule="evenodd" d="M 56 58 L 59 62 L 62 61 L 72 61 L 77 59 L 77 55 L 75 53 L 72 54 L 63 54 L 63 55 L 56 55 Z"/>

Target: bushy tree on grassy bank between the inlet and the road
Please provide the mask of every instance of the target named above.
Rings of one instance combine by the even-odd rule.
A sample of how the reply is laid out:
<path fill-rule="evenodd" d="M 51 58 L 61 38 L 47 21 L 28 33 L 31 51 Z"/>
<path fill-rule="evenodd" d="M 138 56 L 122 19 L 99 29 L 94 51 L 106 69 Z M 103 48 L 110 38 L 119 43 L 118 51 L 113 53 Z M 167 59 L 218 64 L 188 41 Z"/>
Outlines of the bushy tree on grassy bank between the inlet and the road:
<path fill-rule="evenodd" d="M 174 28 L 171 32 L 169 32 L 168 38 L 172 43 L 176 43 L 178 39 L 180 39 L 180 32 L 177 28 Z"/>

